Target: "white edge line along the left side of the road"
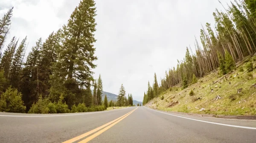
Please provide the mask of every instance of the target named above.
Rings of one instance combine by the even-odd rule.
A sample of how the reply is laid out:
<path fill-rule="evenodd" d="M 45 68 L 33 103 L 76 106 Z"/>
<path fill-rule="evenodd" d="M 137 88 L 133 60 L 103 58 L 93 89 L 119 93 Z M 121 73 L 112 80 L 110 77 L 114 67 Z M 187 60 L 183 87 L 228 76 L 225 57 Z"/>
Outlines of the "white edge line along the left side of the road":
<path fill-rule="evenodd" d="M 127 108 L 123 108 L 123 109 L 128 109 L 130 107 Z M 89 113 L 82 113 L 82 114 L 67 114 L 67 115 L 41 115 L 41 116 L 26 116 L 26 115 L 0 115 L 0 117 L 59 117 L 59 116 L 75 116 L 75 115 L 87 115 L 87 114 L 96 114 L 96 113 L 105 113 L 105 112 L 112 112 L 112 111 L 119 111 L 122 109 L 118 109 L 118 110 L 111 110 L 111 111 L 98 111 L 98 112 L 89 112 Z M 1 112 L 0 112 L 1 113 Z"/>

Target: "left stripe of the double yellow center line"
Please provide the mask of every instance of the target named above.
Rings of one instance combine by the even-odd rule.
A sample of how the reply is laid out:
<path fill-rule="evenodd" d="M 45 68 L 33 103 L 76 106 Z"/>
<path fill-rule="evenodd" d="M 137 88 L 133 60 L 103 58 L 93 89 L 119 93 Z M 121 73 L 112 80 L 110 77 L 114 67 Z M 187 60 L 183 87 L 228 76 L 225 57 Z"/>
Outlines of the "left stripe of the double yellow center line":
<path fill-rule="evenodd" d="M 134 109 L 134 110 L 135 110 L 135 109 Z M 131 112 L 133 112 L 134 110 L 132 110 Z M 128 114 L 131 113 L 131 112 L 128 112 L 128 113 L 125 114 L 125 115 L 128 115 Z M 93 129 L 93 130 L 91 130 L 91 131 L 89 131 L 89 132 L 86 132 L 86 133 L 84 133 L 84 134 L 82 134 L 82 135 L 79 135 L 79 136 L 74 137 L 74 138 L 72 138 L 72 139 L 70 139 L 70 140 L 64 141 L 64 142 L 62 142 L 62 143 L 73 143 L 73 142 L 75 142 L 76 140 L 80 140 L 81 138 L 84 138 L 84 137 L 86 137 L 86 136 L 88 136 L 88 135 L 90 135 L 90 134 L 92 134 L 92 133 L 94 133 L 94 132 L 96 132 L 96 131 L 102 129 L 102 128 L 104 128 L 104 127 L 110 125 L 111 123 L 114 123 L 115 121 L 118 121 L 119 119 L 123 118 L 125 115 L 122 115 L 121 117 L 119 117 L 119 118 L 117 118 L 117 119 L 115 119 L 115 120 L 113 120 L 113 121 L 111 121 L 111 122 L 108 122 L 108 123 L 106 123 L 106 124 L 104 124 L 104 125 L 102 125 L 102 126 L 99 126 L 99 127 L 96 128 L 96 129 Z"/>

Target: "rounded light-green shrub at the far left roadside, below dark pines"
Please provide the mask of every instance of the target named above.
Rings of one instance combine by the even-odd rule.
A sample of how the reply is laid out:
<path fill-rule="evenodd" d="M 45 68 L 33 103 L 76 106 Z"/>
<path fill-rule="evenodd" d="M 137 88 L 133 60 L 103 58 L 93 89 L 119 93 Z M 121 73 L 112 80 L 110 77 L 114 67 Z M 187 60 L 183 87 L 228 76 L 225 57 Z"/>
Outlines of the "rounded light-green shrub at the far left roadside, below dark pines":
<path fill-rule="evenodd" d="M 0 97 L 0 111 L 24 113 L 26 111 L 26 106 L 24 106 L 21 97 L 21 93 L 16 89 L 12 89 L 12 87 L 9 87 Z"/>

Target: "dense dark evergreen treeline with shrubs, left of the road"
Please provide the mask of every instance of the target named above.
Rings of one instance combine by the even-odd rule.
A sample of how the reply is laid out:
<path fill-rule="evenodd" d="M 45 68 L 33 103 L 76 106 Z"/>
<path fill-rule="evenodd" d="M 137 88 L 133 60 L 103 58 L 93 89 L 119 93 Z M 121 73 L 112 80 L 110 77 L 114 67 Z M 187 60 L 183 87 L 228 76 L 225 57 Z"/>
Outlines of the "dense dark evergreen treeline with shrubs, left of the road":
<path fill-rule="evenodd" d="M 125 93 L 117 102 L 106 97 L 102 101 L 101 76 L 93 79 L 97 60 L 94 0 L 81 0 L 67 24 L 45 41 L 39 38 L 27 57 L 27 37 L 13 36 L 6 43 L 13 10 L 0 20 L 0 112 L 88 112 L 133 105 L 132 96 L 126 99 Z"/>

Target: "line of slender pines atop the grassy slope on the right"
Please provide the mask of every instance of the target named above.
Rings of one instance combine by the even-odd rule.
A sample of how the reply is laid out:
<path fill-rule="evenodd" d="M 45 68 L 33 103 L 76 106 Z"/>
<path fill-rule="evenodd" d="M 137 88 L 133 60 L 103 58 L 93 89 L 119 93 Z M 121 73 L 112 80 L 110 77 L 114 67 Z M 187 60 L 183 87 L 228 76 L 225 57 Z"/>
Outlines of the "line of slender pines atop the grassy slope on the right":
<path fill-rule="evenodd" d="M 195 53 L 190 53 L 191 47 L 187 47 L 185 58 L 166 71 L 159 84 L 154 74 L 153 84 L 148 81 L 143 104 L 177 85 L 184 89 L 218 68 L 220 74 L 227 74 L 236 67 L 236 62 L 256 52 L 256 0 L 234 0 L 224 10 L 213 12 L 214 26 L 202 26 L 202 47 L 195 38 Z"/>

